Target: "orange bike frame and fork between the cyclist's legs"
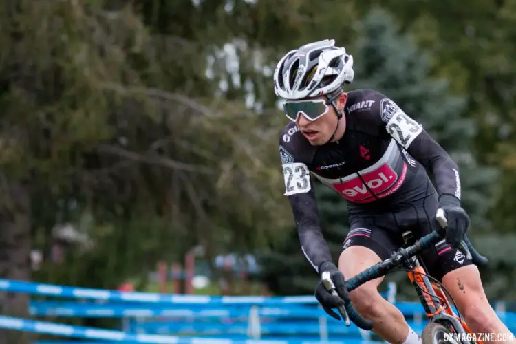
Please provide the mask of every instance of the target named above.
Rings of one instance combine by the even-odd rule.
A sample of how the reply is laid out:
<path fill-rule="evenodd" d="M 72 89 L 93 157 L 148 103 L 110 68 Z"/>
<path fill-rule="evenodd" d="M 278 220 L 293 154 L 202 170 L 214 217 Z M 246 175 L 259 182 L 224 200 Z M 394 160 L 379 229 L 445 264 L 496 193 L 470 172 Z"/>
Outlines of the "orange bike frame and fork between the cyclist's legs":
<path fill-rule="evenodd" d="M 453 308 L 444 294 L 442 288 L 438 283 L 431 281 L 427 277 L 427 272 L 418 264 L 408 272 L 409 279 L 418 292 L 419 299 L 423 305 L 424 311 L 427 313 L 427 318 L 432 319 L 434 316 L 446 313 L 449 316 L 457 319 L 457 321 L 464 327 L 464 330 L 471 334 L 468 325 L 460 317 L 453 312 Z M 477 341 L 478 344 L 483 344 Z"/>

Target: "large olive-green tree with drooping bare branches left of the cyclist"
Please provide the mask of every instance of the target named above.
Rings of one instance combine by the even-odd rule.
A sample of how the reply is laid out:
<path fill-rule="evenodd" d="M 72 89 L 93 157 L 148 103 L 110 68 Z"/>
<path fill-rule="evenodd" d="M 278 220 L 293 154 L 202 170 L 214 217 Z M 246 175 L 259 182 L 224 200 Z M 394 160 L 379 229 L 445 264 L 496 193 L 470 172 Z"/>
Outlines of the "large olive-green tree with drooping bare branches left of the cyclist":
<path fill-rule="evenodd" d="M 45 250 L 35 280 L 115 288 L 198 244 L 209 259 L 257 247 L 273 237 L 270 223 L 283 226 L 273 193 L 281 176 L 270 167 L 276 118 L 213 96 L 206 58 L 215 48 L 195 41 L 202 31 L 158 30 L 149 14 L 114 5 L 0 10 L 2 278 L 30 278 L 30 235 Z M 65 223 L 91 242 L 55 264 L 47 248 Z M 28 311 L 27 297 L 4 299 L 3 314 Z"/>

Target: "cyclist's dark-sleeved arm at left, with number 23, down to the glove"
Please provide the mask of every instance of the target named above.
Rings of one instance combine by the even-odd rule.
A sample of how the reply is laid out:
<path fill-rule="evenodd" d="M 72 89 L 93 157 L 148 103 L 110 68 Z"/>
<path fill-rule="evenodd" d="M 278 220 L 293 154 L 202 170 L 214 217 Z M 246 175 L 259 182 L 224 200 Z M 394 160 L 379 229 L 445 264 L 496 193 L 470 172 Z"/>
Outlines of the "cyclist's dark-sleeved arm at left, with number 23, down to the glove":
<path fill-rule="evenodd" d="M 306 259 L 319 272 L 324 261 L 331 261 L 330 248 L 321 233 L 319 211 L 310 172 L 302 162 L 296 162 L 285 147 L 280 145 L 280 155 L 285 178 L 285 193 L 292 207 L 294 222 Z"/>

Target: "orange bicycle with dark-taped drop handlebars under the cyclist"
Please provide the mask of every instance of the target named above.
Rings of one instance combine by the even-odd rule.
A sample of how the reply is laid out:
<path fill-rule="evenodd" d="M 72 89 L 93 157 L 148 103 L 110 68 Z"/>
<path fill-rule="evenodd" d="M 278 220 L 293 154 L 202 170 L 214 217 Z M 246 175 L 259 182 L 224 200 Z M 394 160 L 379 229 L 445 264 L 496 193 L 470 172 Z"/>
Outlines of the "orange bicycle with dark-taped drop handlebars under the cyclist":
<path fill-rule="evenodd" d="M 436 219 L 442 228 L 446 228 L 447 221 L 442 209 L 438 210 Z M 471 330 L 469 330 L 469 327 L 462 319 L 460 312 L 456 314 L 453 311 L 444 291 L 449 294 L 451 301 L 455 305 L 451 294 L 444 288 L 440 281 L 429 276 L 427 269 L 420 264 L 420 261 L 422 261 L 420 253 L 442 240 L 443 232 L 444 230 L 433 231 L 416 241 L 413 241 L 411 232 L 403 233 L 404 246 L 393 252 L 391 258 L 385 259 L 385 261 L 381 261 L 351 279 L 348 279 L 345 282 L 347 290 L 351 292 L 367 281 L 383 277 L 389 272 L 392 272 L 395 268 L 402 268 L 402 270 L 408 272 L 409 279 L 414 288 L 416 288 L 420 302 L 429 319 L 429 323 L 427 323 L 422 332 L 423 344 L 438 344 L 444 343 L 445 341 L 464 344 L 482 344 L 482 341 L 475 341 Z M 488 259 L 480 255 L 480 253 L 473 248 L 467 237 L 464 237 L 462 240 L 460 249 L 467 259 L 473 261 L 473 264 L 477 266 L 486 266 L 486 264 L 488 264 Z M 337 295 L 329 272 L 323 273 L 322 281 L 332 294 Z M 347 326 L 350 326 L 351 320 L 363 330 L 372 330 L 372 321 L 363 319 L 363 317 L 354 310 L 352 303 L 346 303 L 338 308 L 338 311 L 341 313 Z M 455 341 L 454 338 L 457 337 L 460 338 L 459 341 Z M 470 338 L 473 339 L 473 341 L 470 341 Z"/>

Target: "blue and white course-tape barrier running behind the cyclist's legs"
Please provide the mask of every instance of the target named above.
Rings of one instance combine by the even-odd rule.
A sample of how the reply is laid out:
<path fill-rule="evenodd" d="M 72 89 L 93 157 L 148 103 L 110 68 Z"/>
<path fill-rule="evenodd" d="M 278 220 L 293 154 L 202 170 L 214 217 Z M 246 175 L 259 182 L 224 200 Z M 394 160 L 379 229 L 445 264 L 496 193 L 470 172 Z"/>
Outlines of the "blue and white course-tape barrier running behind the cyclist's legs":
<path fill-rule="evenodd" d="M 369 332 L 359 330 L 355 325 L 346 327 L 341 321 L 327 316 L 312 296 L 166 295 L 74 288 L 3 279 L 0 279 L 0 290 L 80 299 L 34 299 L 30 302 L 31 316 L 118 318 L 125 322 L 124 331 L 114 331 L 0 316 L 0 328 L 86 339 L 87 341 L 80 342 L 82 344 L 358 344 L 369 343 L 371 338 Z M 391 286 L 383 296 L 395 303 L 395 290 L 395 286 Z M 395 305 L 407 318 L 409 325 L 421 333 L 426 319 L 420 303 L 396 302 Z M 514 332 L 516 314 L 503 311 L 498 314 Z M 74 341 L 38 342 L 56 343 L 73 344 Z"/>

